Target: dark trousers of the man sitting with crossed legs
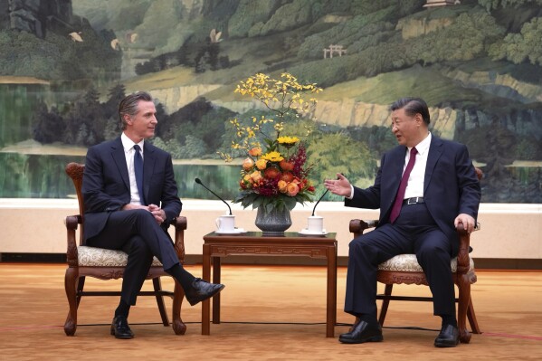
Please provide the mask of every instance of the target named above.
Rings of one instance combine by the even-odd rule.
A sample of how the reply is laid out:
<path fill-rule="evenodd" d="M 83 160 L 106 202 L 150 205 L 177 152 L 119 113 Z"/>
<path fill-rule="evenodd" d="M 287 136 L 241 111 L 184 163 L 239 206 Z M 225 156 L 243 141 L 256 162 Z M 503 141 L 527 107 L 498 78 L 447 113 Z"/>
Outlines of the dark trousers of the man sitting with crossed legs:
<path fill-rule="evenodd" d="M 164 270 L 179 262 L 169 235 L 160 228 L 154 216 L 143 209 L 109 214 L 104 229 L 88 239 L 86 244 L 128 253 L 121 290 L 121 299 L 128 305 L 136 304 L 153 256 L 162 262 Z"/>

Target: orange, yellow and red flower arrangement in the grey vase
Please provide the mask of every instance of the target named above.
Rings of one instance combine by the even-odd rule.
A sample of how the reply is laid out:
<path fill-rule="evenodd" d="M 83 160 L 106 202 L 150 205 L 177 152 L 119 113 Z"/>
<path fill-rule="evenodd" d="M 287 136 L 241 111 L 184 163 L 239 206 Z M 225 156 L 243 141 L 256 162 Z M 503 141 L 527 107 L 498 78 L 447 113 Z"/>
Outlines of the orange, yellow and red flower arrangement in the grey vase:
<path fill-rule="evenodd" d="M 282 134 L 294 129 L 294 123 L 302 123 L 300 119 L 307 117 L 317 103 L 309 95 L 320 91 L 316 84 L 300 84 L 287 72 L 281 74 L 281 79 L 257 73 L 240 81 L 234 92 L 259 100 L 272 117 L 252 117 L 249 125 L 240 119 L 231 120 L 240 138 L 239 142 L 233 141 L 232 148 L 238 156 L 246 157 L 242 161 L 240 193 L 233 203 L 243 208 L 251 204 L 252 209 L 264 207 L 270 213 L 312 201 L 315 187 L 309 181 L 312 166 L 307 164 L 305 143 L 297 136 Z M 308 136 L 311 126 L 301 126 Z M 233 160 L 231 155 L 220 154 L 226 162 Z"/>

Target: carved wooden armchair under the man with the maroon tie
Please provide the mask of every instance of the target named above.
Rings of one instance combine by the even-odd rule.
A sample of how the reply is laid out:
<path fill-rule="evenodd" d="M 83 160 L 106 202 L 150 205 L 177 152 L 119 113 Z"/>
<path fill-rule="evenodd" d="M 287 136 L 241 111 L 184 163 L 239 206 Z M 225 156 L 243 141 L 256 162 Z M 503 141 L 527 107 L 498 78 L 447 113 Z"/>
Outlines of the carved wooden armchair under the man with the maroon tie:
<path fill-rule="evenodd" d="M 476 168 L 478 179 L 482 177 L 480 169 Z M 362 221 L 354 219 L 350 221 L 350 232 L 354 237 L 359 236 L 369 228 L 376 227 L 378 221 Z M 468 344 L 471 341 L 471 333 L 467 330 L 466 318 L 469 318 L 472 332 L 480 334 L 480 327 L 474 314 L 474 307 L 471 299 L 471 284 L 476 282 L 474 262 L 469 254 L 471 234 L 467 233 L 461 226 L 457 232 L 460 236 L 460 248 L 456 258 L 452 260 L 453 281 L 459 290 L 459 297 L 455 299 L 458 303 L 457 322 L 461 343 Z M 476 230 L 480 229 L 477 224 Z M 384 326 L 385 314 L 391 299 L 411 301 L 432 301 L 431 297 L 414 296 L 392 296 L 394 284 L 417 284 L 428 286 L 422 267 L 416 260 L 415 254 L 399 254 L 394 258 L 378 265 L 376 280 L 385 284 L 384 294 L 376 295 L 376 299 L 382 299 L 382 306 L 378 322 Z"/>

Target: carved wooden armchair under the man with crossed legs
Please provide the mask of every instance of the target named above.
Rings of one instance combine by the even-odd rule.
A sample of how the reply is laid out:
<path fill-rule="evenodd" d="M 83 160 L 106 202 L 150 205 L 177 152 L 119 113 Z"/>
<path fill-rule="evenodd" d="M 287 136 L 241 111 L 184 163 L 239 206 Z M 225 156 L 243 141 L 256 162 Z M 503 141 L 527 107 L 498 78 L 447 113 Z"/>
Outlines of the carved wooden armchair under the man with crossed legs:
<path fill-rule="evenodd" d="M 100 280 L 111 280 L 122 278 L 128 255 L 122 251 L 111 251 L 97 247 L 85 246 L 82 242 L 82 232 L 84 226 L 83 218 L 83 200 L 81 195 L 81 185 L 83 178 L 84 165 L 70 163 L 66 166 L 66 173 L 71 177 L 77 199 L 79 201 L 78 215 L 70 215 L 66 217 L 66 229 L 68 231 L 68 252 L 67 261 L 68 269 L 64 278 L 64 288 L 70 311 L 68 318 L 64 324 L 64 332 L 67 336 L 73 336 L 77 328 L 77 309 L 79 308 L 82 296 L 120 296 L 120 291 L 86 291 L 83 290 L 85 277 L 90 276 Z M 76 240 L 75 231 L 78 225 L 79 242 Z M 185 229 L 186 218 L 179 216 L 175 224 L 175 250 L 179 261 L 185 261 Z M 162 290 L 160 282 L 161 276 L 169 276 L 162 268 L 162 264 L 155 257 L 150 271 L 147 275 L 147 280 L 152 280 L 154 290 L 140 291 L 140 296 L 155 296 L 157 298 L 158 311 L 162 318 L 164 326 L 169 326 L 166 308 L 164 304 L 164 296 L 173 298 L 173 330 L 176 335 L 183 335 L 186 331 L 185 323 L 181 319 L 181 303 L 185 297 L 185 292 L 175 282 L 175 290 Z"/>

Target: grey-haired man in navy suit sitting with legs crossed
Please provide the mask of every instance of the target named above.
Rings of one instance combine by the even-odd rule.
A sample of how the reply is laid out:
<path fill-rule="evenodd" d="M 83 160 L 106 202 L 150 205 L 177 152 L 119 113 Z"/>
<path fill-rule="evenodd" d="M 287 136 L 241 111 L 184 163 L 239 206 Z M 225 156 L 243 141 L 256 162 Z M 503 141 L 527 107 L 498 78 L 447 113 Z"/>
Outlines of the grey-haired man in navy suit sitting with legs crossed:
<path fill-rule="evenodd" d="M 119 138 L 90 147 L 82 184 L 87 245 L 122 250 L 128 263 L 111 335 L 132 338 L 128 311 L 136 304 L 152 264 L 162 262 L 185 290 L 191 305 L 223 289 L 195 278 L 180 264 L 167 228 L 181 212 L 171 156 L 145 139 L 155 135 L 157 110 L 146 92 L 128 95 L 119 105 Z"/>

